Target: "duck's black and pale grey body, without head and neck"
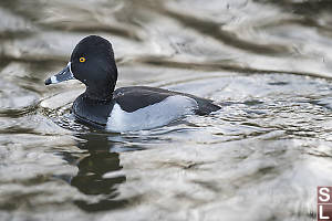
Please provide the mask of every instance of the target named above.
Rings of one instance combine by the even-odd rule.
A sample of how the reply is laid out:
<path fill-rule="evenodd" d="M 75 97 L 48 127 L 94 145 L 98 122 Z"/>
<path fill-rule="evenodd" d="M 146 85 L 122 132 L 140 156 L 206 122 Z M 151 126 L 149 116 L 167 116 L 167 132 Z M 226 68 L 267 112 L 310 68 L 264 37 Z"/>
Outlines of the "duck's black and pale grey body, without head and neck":
<path fill-rule="evenodd" d="M 209 99 L 147 86 L 115 90 L 107 102 L 96 102 L 83 93 L 73 104 L 80 122 L 111 131 L 154 128 L 186 115 L 207 115 L 219 108 Z"/>

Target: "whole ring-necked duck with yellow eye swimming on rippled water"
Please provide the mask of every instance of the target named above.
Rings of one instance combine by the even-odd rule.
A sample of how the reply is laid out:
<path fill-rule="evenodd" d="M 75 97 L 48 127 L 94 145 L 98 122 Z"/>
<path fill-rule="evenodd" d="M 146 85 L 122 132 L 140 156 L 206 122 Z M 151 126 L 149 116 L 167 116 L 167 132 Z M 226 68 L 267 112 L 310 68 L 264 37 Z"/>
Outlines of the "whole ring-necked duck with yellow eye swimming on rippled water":
<path fill-rule="evenodd" d="M 73 78 L 86 86 L 73 104 L 75 118 L 111 131 L 159 127 L 185 115 L 220 109 L 209 99 L 168 90 L 131 86 L 114 91 L 117 69 L 112 44 L 96 35 L 81 40 L 66 67 L 45 80 L 45 85 Z"/>

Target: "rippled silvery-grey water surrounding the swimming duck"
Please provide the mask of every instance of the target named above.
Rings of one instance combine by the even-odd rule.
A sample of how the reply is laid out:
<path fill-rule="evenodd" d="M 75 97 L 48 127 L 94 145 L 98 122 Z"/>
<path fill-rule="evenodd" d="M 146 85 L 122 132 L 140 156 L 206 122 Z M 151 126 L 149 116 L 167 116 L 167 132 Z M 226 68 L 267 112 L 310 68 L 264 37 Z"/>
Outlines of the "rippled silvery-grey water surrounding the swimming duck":
<path fill-rule="evenodd" d="M 332 186 L 330 0 L 0 2 L 0 220 L 315 220 Z M 117 86 L 222 105 L 125 134 L 75 123 L 80 39 L 112 41 Z"/>

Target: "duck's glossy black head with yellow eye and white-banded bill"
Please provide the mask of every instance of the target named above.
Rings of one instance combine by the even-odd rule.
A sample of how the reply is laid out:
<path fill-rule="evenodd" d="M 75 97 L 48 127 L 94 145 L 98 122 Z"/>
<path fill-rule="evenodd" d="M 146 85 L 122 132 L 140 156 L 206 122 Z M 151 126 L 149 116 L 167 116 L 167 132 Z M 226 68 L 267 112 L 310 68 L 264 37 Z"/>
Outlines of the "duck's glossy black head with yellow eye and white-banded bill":
<path fill-rule="evenodd" d="M 86 85 L 86 95 L 93 99 L 110 99 L 117 80 L 112 44 L 97 35 L 90 35 L 79 42 L 72 52 L 70 63 L 45 84 L 76 78 Z"/>

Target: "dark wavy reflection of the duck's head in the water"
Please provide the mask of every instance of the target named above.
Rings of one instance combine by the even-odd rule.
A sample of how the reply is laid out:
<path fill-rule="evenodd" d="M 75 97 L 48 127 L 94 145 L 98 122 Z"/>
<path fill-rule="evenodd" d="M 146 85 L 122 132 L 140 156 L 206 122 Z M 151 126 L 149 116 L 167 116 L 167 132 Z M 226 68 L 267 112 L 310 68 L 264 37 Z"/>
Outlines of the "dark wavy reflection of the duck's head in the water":
<path fill-rule="evenodd" d="M 85 194 L 100 194 L 102 200 L 93 203 L 80 200 L 75 203 L 90 212 L 125 207 L 127 200 L 115 199 L 120 194 L 117 186 L 125 182 L 126 177 L 120 172 L 120 154 L 111 151 L 114 143 L 105 134 L 80 134 L 76 137 L 82 140 L 77 147 L 86 149 L 90 155 L 79 160 L 79 172 L 71 185 Z"/>

